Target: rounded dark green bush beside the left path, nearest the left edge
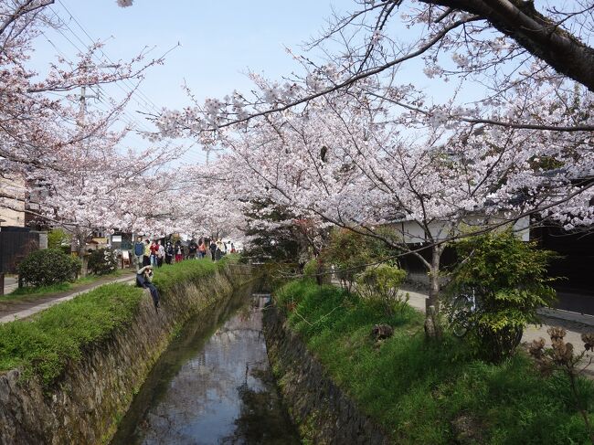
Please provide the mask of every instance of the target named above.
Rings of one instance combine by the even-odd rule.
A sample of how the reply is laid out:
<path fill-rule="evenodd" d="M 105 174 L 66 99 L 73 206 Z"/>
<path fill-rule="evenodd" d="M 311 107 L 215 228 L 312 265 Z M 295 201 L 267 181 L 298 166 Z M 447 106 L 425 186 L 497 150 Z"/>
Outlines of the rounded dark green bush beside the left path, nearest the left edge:
<path fill-rule="evenodd" d="M 31 252 L 18 265 L 19 278 L 33 286 L 74 281 L 81 262 L 58 249 L 43 249 Z"/>

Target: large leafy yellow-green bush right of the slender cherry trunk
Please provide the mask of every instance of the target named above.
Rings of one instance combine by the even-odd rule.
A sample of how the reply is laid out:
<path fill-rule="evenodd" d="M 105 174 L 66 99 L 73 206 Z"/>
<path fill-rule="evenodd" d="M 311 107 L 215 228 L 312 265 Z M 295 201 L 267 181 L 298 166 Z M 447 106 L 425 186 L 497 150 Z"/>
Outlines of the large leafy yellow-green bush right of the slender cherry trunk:
<path fill-rule="evenodd" d="M 458 258 L 446 292 L 446 303 L 474 292 L 477 311 L 469 313 L 483 355 L 497 361 L 514 352 L 528 323 L 539 323 L 536 309 L 549 306 L 556 293 L 548 285 L 546 266 L 554 257 L 512 231 L 467 238 L 456 243 Z M 446 311 L 448 310 L 446 304 Z"/>

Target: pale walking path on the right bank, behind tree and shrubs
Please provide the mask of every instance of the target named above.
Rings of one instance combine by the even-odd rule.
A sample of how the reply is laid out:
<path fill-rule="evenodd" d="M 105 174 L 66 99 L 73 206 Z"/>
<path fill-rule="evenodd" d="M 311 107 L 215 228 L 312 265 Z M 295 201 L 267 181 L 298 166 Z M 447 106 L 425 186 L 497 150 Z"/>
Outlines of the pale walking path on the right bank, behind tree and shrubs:
<path fill-rule="evenodd" d="M 410 304 L 415 309 L 425 312 L 425 301 L 429 295 L 419 293 L 417 291 L 402 291 L 407 292 Z M 584 344 L 581 341 L 581 334 L 594 333 L 594 316 L 582 315 L 581 313 L 569 313 L 567 311 L 559 311 L 557 309 L 542 309 L 538 311 L 542 325 L 529 325 L 522 336 L 523 343 L 531 343 L 533 340 L 543 337 L 546 340 L 546 346 L 550 347 L 551 339 L 546 334 L 546 330 L 551 326 L 561 326 L 567 331 L 565 341 L 573 344 L 574 351 L 580 354 L 584 351 Z"/>

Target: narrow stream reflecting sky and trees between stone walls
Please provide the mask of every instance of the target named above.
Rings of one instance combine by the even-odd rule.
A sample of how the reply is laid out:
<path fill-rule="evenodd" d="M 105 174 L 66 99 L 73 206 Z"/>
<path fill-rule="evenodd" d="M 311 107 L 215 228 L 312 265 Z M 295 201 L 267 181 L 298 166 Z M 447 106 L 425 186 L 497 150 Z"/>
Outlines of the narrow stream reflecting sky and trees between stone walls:
<path fill-rule="evenodd" d="M 192 319 L 159 358 L 111 445 L 299 444 L 261 331 L 266 297 L 243 291 Z"/>

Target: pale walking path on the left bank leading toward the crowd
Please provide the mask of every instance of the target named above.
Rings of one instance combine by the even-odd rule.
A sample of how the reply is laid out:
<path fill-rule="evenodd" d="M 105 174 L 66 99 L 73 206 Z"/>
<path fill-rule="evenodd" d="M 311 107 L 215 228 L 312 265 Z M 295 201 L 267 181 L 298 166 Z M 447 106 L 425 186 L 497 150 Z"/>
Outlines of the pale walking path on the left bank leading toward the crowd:
<path fill-rule="evenodd" d="M 127 273 L 120 278 L 101 278 L 89 284 L 82 285 L 73 291 L 50 293 L 43 296 L 18 296 L 11 300 L 0 301 L 0 323 L 13 322 L 15 320 L 26 318 L 34 313 L 48 309 L 48 307 L 72 300 L 74 297 L 97 289 L 98 287 L 112 282 L 133 282 L 136 275 Z"/>

